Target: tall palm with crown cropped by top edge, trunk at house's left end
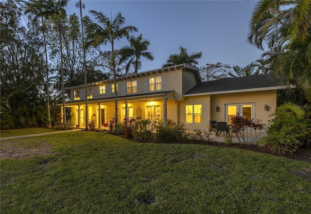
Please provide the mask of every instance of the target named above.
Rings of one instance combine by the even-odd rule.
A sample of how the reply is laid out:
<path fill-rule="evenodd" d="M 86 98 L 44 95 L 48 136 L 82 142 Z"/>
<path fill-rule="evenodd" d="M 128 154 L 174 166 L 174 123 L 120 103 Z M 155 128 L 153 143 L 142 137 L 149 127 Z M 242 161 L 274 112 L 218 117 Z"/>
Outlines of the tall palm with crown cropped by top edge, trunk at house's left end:
<path fill-rule="evenodd" d="M 61 34 L 61 23 L 59 16 L 65 16 L 66 10 L 64 7 L 68 4 L 69 0 L 45 0 L 42 2 L 44 8 L 43 11 L 38 13 L 38 16 L 44 17 L 56 17 L 57 30 L 59 34 L 59 45 L 60 45 L 60 59 L 61 59 L 61 81 L 62 81 L 62 101 L 63 101 L 63 122 L 66 127 L 66 107 L 65 107 L 65 87 L 64 87 L 64 68 L 63 68 L 63 44 L 62 44 L 62 34 Z"/>

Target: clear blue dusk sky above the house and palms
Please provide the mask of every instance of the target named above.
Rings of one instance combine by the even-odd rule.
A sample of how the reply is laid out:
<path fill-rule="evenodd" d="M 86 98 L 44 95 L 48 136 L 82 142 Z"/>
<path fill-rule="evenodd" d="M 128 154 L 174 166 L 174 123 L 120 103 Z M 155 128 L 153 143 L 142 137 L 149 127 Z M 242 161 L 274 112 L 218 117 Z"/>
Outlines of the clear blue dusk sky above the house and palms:
<path fill-rule="evenodd" d="M 67 14 L 76 13 L 76 0 L 70 0 Z M 252 0 L 82 0 L 83 16 L 90 10 L 102 11 L 114 18 L 118 12 L 126 18 L 124 26 L 138 28 L 138 33 L 151 42 L 149 51 L 154 61 L 142 59 L 138 72 L 162 67 L 170 54 L 179 53 L 179 46 L 189 53 L 202 52 L 197 67 L 221 62 L 230 66 L 246 66 L 259 59 L 262 51 L 249 44 L 248 23 L 257 1 Z M 115 47 L 128 45 L 126 39 L 116 41 Z M 110 45 L 102 46 L 110 50 Z"/>

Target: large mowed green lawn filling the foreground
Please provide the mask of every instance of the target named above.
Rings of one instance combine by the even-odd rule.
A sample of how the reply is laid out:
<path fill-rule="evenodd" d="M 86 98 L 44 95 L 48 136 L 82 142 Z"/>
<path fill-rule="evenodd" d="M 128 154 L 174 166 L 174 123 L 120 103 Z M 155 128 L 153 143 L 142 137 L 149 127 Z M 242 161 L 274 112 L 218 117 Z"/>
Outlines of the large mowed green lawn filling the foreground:
<path fill-rule="evenodd" d="M 311 163 L 195 144 L 68 132 L 1 144 L 52 145 L 1 160 L 1 213 L 308 214 Z"/>

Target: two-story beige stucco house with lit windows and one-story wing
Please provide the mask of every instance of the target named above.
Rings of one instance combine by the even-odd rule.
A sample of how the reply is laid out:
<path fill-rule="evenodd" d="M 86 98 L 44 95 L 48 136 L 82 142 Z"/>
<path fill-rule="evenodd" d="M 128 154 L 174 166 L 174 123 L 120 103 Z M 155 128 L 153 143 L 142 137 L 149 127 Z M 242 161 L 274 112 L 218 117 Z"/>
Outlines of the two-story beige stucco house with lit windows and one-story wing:
<path fill-rule="evenodd" d="M 155 69 L 113 79 L 70 87 L 71 119 L 85 127 L 88 119 L 102 128 L 115 117 L 114 92 L 118 91 L 118 118 L 144 118 L 181 122 L 190 130 L 206 129 L 210 120 L 230 124 L 240 113 L 267 124 L 276 108 L 276 90 L 284 89 L 269 74 L 202 82 L 198 68 L 188 64 Z M 61 110 L 61 112 L 63 112 Z"/>

